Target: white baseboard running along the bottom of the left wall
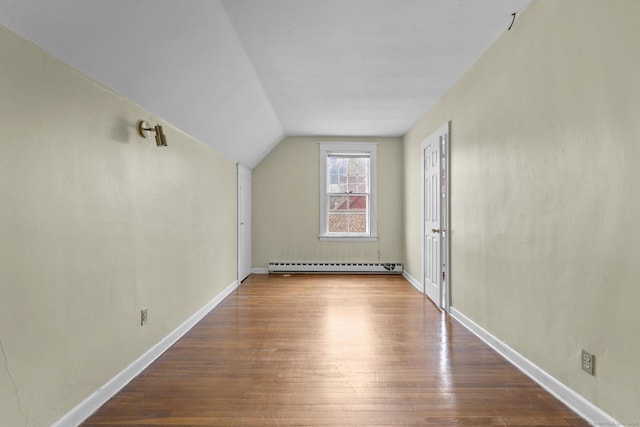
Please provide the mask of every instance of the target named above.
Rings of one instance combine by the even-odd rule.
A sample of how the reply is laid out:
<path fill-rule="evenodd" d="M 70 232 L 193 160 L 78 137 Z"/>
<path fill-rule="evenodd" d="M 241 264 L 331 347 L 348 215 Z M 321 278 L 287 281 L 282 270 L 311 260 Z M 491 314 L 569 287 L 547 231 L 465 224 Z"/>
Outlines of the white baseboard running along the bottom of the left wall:
<path fill-rule="evenodd" d="M 80 402 L 75 408 L 66 415 L 52 424 L 51 427 L 70 427 L 77 426 L 93 414 L 98 408 L 104 405 L 111 397 L 127 385 L 132 379 L 138 376 L 147 366 L 156 360 L 169 347 L 175 344 L 184 334 L 186 334 L 196 323 L 213 310 L 222 302 L 231 292 L 238 287 L 238 281 L 235 280 L 227 286 L 222 292 L 216 295 L 204 307 L 189 317 L 184 323 L 178 326 L 174 331 L 164 337 L 158 344 L 151 347 L 135 360 L 131 365 L 120 371 L 115 377 L 110 379 L 106 384 L 98 388 L 93 394 Z"/>

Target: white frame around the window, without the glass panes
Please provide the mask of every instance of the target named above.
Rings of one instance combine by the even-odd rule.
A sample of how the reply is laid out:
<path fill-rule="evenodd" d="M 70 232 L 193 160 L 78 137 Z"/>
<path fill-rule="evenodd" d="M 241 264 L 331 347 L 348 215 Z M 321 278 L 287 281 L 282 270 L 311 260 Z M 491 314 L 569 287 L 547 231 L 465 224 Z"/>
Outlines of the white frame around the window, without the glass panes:
<path fill-rule="evenodd" d="M 373 242 L 378 240 L 377 167 L 378 144 L 375 142 L 320 142 L 320 235 L 321 241 Z M 369 234 L 328 232 L 327 157 L 329 153 L 367 153 L 369 155 Z"/>

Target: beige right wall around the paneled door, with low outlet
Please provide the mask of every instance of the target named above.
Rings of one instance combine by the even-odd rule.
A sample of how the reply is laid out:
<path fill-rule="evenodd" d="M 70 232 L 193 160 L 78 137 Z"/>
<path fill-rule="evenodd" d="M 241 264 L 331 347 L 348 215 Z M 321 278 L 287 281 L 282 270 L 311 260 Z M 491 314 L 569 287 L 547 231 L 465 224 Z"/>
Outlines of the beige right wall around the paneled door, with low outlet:
<path fill-rule="evenodd" d="M 453 306 L 621 422 L 640 422 L 640 2 L 534 1 L 405 138 L 452 120 Z M 580 350 L 596 355 L 596 376 Z"/>

